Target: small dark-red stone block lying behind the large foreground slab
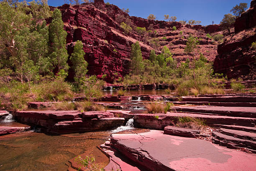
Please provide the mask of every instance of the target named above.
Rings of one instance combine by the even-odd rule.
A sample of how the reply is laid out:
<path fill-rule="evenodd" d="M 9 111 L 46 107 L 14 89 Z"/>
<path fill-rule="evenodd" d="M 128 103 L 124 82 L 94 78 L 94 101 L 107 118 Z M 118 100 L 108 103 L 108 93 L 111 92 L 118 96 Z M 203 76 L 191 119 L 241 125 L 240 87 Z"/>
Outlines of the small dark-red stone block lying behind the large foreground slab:
<path fill-rule="evenodd" d="M 166 126 L 164 127 L 164 134 L 196 138 L 200 136 L 200 130 L 181 128 L 177 126 Z"/>

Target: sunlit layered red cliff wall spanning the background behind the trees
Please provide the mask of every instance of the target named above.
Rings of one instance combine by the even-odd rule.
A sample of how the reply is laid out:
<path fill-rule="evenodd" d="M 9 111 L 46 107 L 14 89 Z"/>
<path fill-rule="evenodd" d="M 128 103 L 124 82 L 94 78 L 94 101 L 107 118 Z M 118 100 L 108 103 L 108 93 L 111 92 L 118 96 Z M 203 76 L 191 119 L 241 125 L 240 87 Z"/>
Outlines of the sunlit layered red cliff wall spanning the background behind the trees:
<path fill-rule="evenodd" d="M 147 20 L 144 18 L 131 17 L 120 10 L 115 5 L 106 5 L 103 0 L 95 3 L 83 3 L 82 5 L 62 5 L 58 7 L 62 13 L 64 29 L 67 31 L 67 49 L 69 55 L 73 52 L 74 44 L 81 40 L 83 45 L 85 60 L 88 62 L 88 75 L 107 75 L 105 80 L 108 83 L 118 77 L 123 77 L 129 73 L 129 63 L 131 45 L 139 41 L 144 59 L 149 57 L 150 50 L 153 49 L 150 40 L 159 39 L 159 47 L 154 47 L 156 53 L 160 53 L 161 48 L 166 45 L 173 57 L 180 63 L 187 58 L 192 58 L 184 53 L 187 38 L 189 35 L 197 36 L 200 40 L 200 52 L 209 61 L 213 61 L 217 55 L 217 42 L 210 40 L 206 33 L 222 33 L 219 25 L 182 25 L 179 22 L 165 22 L 158 20 Z M 51 7 L 54 10 L 54 7 Z M 120 27 L 120 22 L 115 19 L 123 15 L 123 21 L 127 18 L 131 20 L 133 30 L 125 35 Z M 139 35 L 136 27 L 153 25 L 153 32 L 146 32 Z M 172 30 L 175 26 L 177 30 Z M 182 31 L 182 34 L 180 34 Z M 163 37 L 166 37 L 164 40 Z M 199 53 L 197 54 L 199 56 Z M 72 65 L 68 61 L 69 65 Z M 69 70 L 68 79 L 72 80 L 74 71 Z"/>

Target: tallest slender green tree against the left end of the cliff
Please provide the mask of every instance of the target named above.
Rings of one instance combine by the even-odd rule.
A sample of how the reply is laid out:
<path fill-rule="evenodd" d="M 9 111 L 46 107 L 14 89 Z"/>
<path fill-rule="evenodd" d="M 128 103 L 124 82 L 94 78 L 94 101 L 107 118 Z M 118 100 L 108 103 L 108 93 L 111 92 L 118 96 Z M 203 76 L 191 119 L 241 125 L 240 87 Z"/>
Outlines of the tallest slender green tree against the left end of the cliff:
<path fill-rule="evenodd" d="M 67 32 L 63 29 L 64 23 L 61 19 L 61 11 L 54 10 L 52 22 L 49 25 L 49 43 L 51 54 L 50 58 L 57 73 L 63 69 L 67 72 L 69 66 L 67 64 L 68 54 L 66 49 Z"/>

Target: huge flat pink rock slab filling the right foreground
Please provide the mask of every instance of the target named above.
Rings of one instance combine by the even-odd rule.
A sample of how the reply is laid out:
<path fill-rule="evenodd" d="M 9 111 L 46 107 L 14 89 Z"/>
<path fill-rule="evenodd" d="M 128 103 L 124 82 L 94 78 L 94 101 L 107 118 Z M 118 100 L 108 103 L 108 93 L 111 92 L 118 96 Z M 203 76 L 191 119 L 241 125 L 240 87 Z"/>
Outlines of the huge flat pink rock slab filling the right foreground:
<path fill-rule="evenodd" d="M 255 171 L 256 168 L 256 154 L 196 138 L 166 135 L 163 131 L 112 134 L 111 142 L 124 156 L 152 171 Z"/>

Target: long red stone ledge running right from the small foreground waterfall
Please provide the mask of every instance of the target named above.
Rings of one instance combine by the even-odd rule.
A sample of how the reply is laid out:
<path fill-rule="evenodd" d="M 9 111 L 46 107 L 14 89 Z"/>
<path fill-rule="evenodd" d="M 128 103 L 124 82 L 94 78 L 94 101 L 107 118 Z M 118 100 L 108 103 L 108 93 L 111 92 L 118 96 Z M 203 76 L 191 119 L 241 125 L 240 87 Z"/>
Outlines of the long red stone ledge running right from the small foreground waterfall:
<path fill-rule="evenodd" d="M 200 118 L 203 119 L 207 124 L 225 124 L 254 127 L 256 123 L 256 118 L 167 112 L 166 114 L 136 114 L 134 115 L 134 126 L 136 128 L 164 130 L 164 127 L 166 126 L 174 126 L 174 124 L 177 123 L 179 117 Z"/>

